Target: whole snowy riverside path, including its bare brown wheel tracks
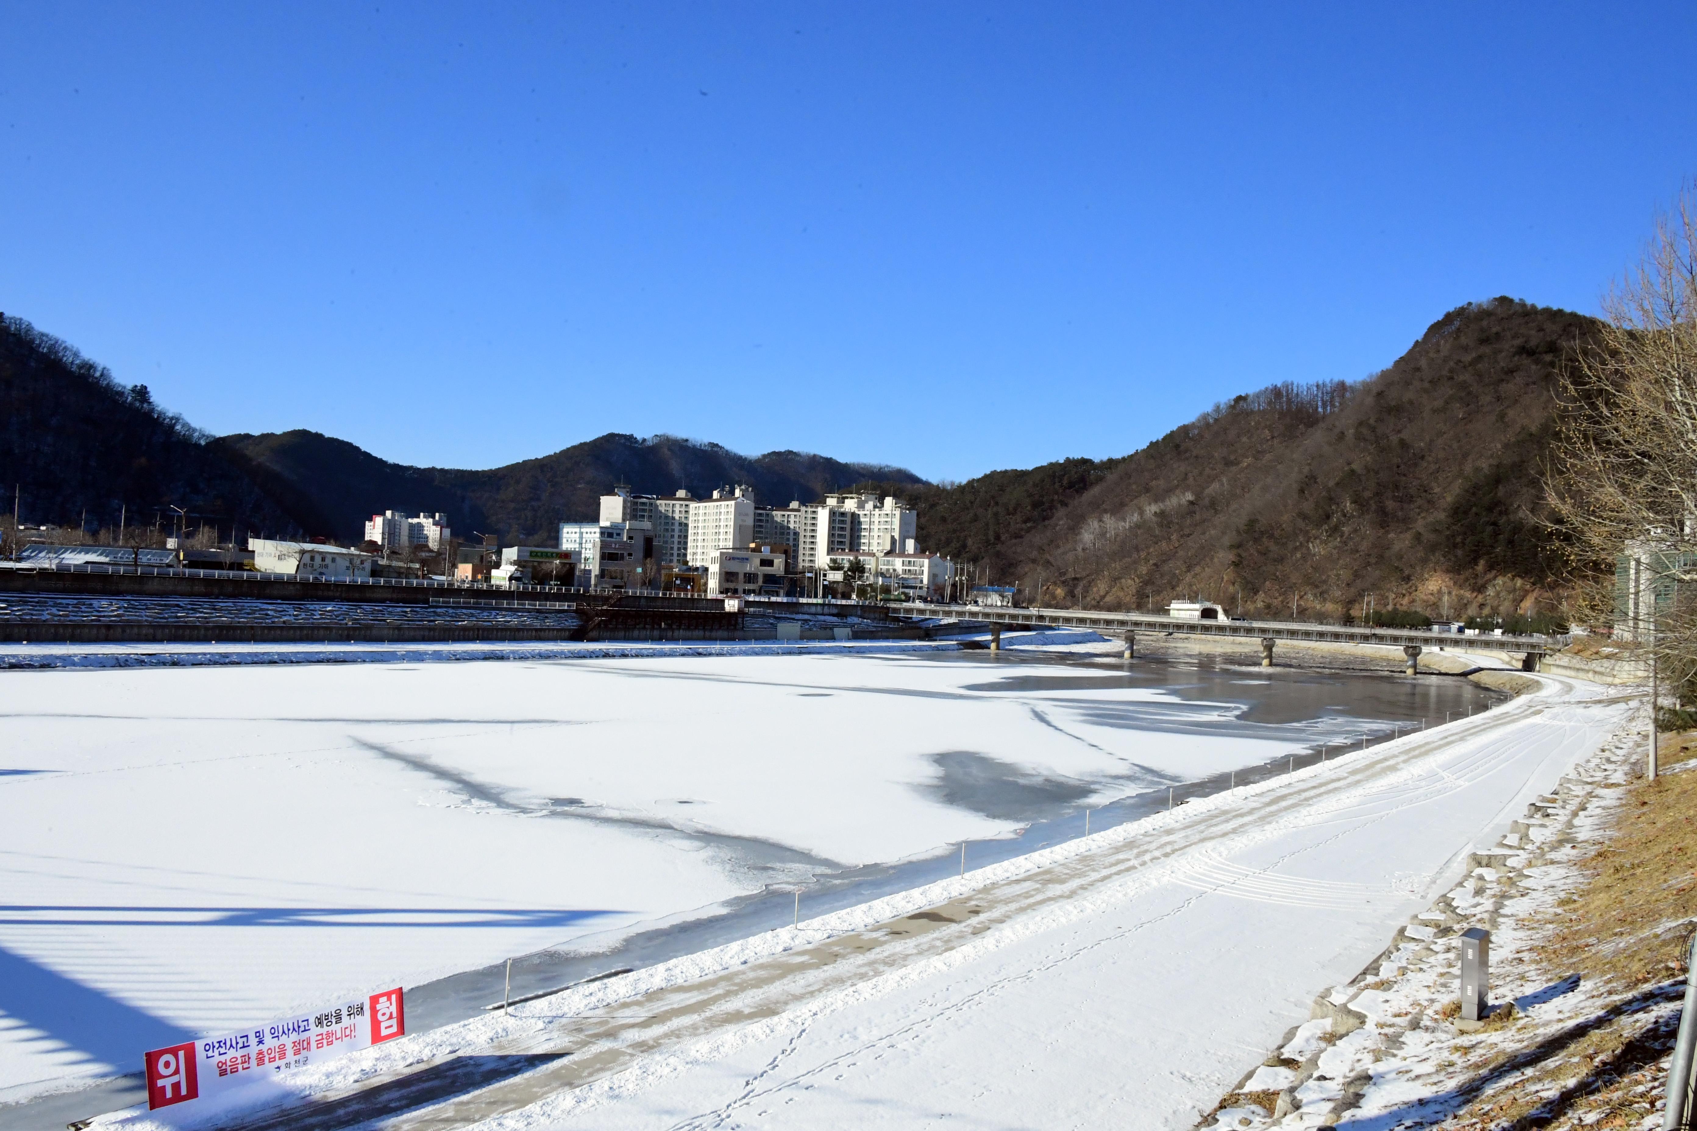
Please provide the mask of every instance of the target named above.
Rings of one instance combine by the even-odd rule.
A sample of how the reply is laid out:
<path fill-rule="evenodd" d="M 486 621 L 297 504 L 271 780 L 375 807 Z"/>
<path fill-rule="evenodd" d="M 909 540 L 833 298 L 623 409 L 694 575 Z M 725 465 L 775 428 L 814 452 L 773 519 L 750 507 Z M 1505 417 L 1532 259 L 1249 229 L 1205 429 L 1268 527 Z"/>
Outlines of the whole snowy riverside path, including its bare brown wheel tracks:
<path fill-rule="evenodd" d="M 840 912 L 409 1038 L 397 1070 L 470 1053 L 541 1067 L 380 1126 L 1190 1126 L 1622 710 L 1546 678 L 1487 716 L 891 897 L 860 922 Z M 370 1084 L 287 1126 L 351 1126 Z"/>

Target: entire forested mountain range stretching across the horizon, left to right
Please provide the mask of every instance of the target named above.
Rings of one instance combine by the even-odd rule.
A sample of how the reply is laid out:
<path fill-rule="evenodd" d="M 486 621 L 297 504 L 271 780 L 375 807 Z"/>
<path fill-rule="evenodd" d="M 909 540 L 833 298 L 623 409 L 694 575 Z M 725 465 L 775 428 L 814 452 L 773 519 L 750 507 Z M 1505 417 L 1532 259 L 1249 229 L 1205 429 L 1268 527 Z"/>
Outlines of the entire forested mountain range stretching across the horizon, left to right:
<path fill-rule="evenodd" d="M 1388 370 L 1351 385 L 1280 385 L 1215 405 L 1117 460 L 1062 460 L 959 485 L 794 451 L 740 456 L 672 436 L 608 434 L 485 471 L 412 468 L 294 431 L 209 439 L 75 349 L 5 319 L 0 475 L 25 521 L 151 522 L 166 504 L 243 529 L 356 541 L 367 515 L 450 515 L 502 543 L 552 541 L 597 497 L 697 497 L 748 483 L 762 502 L 855 483 L 920 509 L 927 549 L 1045 604 L 1164 607 L 1203 595 L 1234 612 L 1342 617 L 1549 610 L 1560 558 L 1539 470 L 1560 366 L 1597 324 L 1510 298 L 1434 322 Z M 1101 405 L 1112 412 L 1113 405 Z M 134 521 L 134 519 L 132 519 Z"/>

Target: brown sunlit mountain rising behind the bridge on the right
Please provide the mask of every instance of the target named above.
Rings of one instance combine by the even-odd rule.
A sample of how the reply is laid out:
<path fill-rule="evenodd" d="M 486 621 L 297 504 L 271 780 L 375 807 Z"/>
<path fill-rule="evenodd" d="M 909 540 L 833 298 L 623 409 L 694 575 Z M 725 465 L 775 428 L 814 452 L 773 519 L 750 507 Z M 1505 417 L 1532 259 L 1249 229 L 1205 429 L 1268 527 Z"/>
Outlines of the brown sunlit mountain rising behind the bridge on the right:
<path fill-rule="evenodd" d="M 1560 366 L 1597 322 L 1512 298 L 1458 307 L 1364 382 L 1215 405 L 1120 460 L 903 490 L 921 544 L 1044 604 L 1246 616 L 1551 612 L 1543 524 Z M 1112 405 L 1103 405 L 1112 410 Z M 1239 592 L 1242 597 L 1239 599 Z"/>

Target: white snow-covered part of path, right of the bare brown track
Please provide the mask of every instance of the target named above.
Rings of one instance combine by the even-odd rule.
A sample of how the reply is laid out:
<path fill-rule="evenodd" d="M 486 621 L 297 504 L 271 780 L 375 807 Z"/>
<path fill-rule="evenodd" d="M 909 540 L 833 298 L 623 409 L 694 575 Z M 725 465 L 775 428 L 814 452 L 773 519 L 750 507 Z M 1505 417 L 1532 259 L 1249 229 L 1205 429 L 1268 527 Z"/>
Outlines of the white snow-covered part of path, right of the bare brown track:
<path fill-rule="evenodd" d="M 981 890 L 979 914 L 777 1017 L 497 1126 L 1190 1126 L 1617 724 L 1622 709 L 1561 704 L 1583 692 L 1551 683 L 1465 741 L 1437 733 L 1249 804 L 1213 799 Z"/>

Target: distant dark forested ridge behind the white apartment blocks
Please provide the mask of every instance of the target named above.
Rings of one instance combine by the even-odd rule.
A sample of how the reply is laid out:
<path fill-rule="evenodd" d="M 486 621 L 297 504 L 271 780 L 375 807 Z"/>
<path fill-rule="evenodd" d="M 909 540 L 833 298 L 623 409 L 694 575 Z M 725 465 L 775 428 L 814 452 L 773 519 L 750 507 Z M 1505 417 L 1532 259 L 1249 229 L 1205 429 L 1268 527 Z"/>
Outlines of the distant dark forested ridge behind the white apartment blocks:
<path fill-rule="evenodd" d="M 925 480 L 903 468 L 843 463 L 804 451 L 742 456 L 720 444 L 677 436 L 638 439 L 608 432 L 552 456 L 487 471 L 414 468 L 389 463 L 344 439 L 319 432 L 224 436 L 219 444 L 297 492 L 307 529 L 358 541 L 365 519 L 382 510 L 443 512 L 455 531 L 499 534 L 504 544 L 546 539 L 562 521 L 592 521 L 614 483 L 643 493 L 679 488 L 697 499 L 716 487 L 747 483 L 762 504 L 815 502 L 825 492 L 879 478 L 901 488 Z"/>

